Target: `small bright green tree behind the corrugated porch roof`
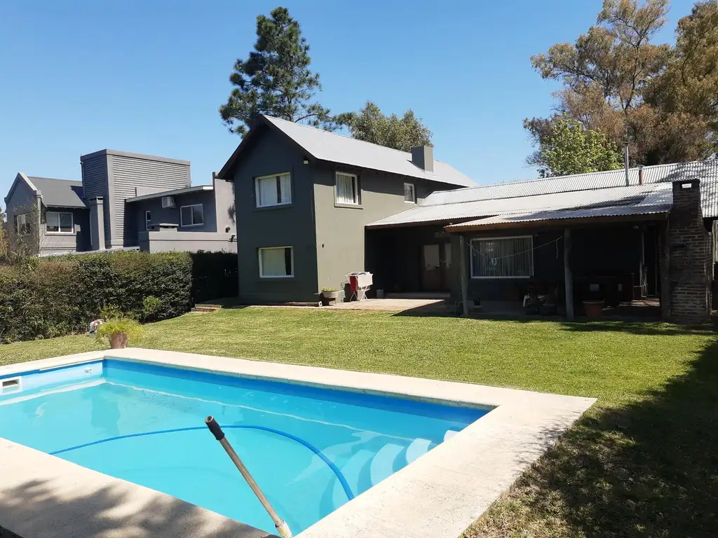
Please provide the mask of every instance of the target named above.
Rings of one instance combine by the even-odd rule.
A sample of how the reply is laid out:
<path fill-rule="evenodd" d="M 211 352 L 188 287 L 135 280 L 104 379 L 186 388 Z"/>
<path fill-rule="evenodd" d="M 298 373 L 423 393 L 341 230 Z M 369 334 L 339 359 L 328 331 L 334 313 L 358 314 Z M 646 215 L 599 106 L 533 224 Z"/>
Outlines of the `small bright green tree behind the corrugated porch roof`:
<path fill-rule="evenodd" d="M 541 176 L 584 174 L 621 167 L 621 154 L 605 134 L 587 131 L 577 121 L 558 118 L 544 133 L 541 149 L 534 155 Z"/>

